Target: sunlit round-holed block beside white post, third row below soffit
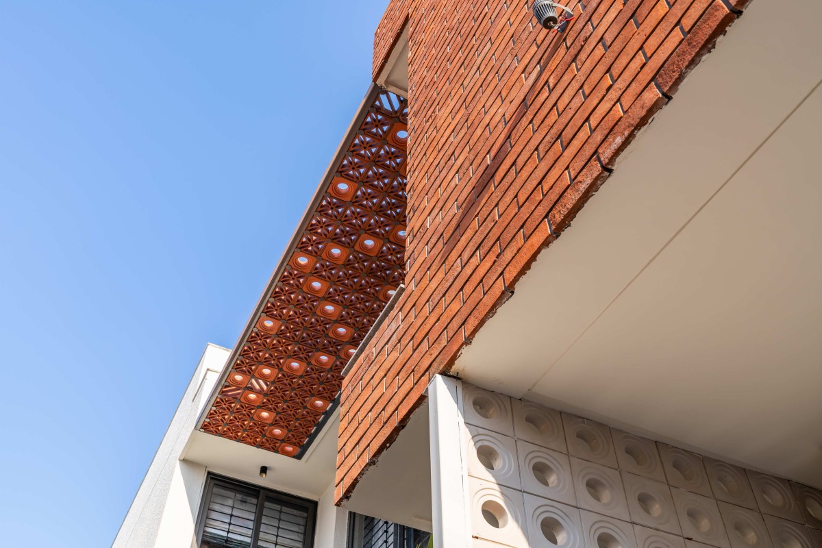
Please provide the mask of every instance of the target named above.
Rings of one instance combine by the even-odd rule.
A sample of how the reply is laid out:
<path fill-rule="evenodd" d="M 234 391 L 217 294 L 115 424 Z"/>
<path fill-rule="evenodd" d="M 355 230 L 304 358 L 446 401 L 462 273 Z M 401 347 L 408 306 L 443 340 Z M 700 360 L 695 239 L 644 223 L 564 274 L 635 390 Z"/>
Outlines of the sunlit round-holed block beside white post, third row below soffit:
<path fill-rule="evenodd" d="M 514 548 L 528 548 L 522 491 L 469 477 L 473 536 Z"/>

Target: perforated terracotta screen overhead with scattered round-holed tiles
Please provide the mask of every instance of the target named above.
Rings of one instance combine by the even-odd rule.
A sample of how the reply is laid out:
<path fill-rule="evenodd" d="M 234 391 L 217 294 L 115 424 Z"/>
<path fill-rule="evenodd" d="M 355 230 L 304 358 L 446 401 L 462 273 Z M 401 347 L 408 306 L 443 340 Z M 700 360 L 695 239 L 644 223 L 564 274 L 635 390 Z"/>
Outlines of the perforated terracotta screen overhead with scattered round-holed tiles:
<path fill-rule="evenodd" d="M 404 279 L 404 99 L 372 92 L 348 150 L 279 265 L 201 430 L 291 457 Z"/>

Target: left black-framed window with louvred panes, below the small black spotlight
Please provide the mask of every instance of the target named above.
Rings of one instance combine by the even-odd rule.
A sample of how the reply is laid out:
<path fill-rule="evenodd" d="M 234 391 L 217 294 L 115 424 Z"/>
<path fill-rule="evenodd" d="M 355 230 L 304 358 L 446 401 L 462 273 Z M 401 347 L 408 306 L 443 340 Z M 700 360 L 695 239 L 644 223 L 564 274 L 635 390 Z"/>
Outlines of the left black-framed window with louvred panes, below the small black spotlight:
<path fill-rule="evenodd" d="M 209 477 L 200 510 L 200 548 L 312 548 L 316 503 Z"/>

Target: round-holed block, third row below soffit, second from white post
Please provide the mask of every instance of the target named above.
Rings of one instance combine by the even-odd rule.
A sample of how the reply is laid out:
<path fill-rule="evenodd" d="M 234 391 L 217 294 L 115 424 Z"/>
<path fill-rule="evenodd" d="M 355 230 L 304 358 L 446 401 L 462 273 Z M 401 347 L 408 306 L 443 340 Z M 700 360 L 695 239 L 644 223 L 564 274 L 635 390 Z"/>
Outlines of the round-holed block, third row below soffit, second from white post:
<path fill-rule="evenodd" d="M 579 509 L 526 494 L 525 516 L 533 548 L 585 548 Z"/>

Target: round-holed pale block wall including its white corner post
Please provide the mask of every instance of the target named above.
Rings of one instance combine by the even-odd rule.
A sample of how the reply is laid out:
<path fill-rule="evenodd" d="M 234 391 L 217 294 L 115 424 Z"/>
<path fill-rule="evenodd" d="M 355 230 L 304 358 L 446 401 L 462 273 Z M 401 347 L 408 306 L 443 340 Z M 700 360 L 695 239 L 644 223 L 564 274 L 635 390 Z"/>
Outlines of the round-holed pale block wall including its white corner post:
<path fill-rule="evenodd" d="M 819 490 L 459 380 L 429 397 L 438 547 L 822 548 Z"/>

